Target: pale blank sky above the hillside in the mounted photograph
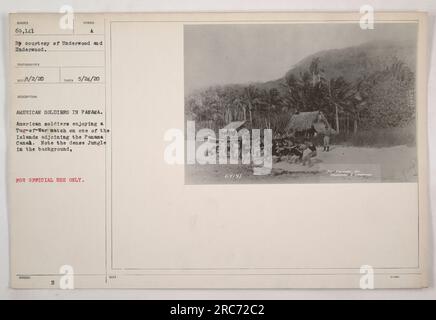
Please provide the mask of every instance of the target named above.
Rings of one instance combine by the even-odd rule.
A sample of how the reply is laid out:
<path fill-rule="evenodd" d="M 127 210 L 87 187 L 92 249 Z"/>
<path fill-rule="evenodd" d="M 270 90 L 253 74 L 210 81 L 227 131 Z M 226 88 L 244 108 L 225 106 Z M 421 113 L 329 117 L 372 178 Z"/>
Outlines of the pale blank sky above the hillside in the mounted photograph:
<path fill-rule="evenodd" d="M 187 25 L 185 90 L 275 80 L 308 55 L 372 40 L 415 39 L 415 24 L 357 23 Z"/>

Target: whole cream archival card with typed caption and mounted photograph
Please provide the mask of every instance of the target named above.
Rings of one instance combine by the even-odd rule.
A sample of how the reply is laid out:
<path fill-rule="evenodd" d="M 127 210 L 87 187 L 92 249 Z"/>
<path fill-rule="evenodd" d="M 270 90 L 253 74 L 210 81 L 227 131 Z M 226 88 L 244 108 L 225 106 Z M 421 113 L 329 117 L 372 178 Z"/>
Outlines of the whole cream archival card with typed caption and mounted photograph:
<path fill-rule="evenodd" d="M 14 288 L 422 288 L 425 13 L 10 14 Z"/>

